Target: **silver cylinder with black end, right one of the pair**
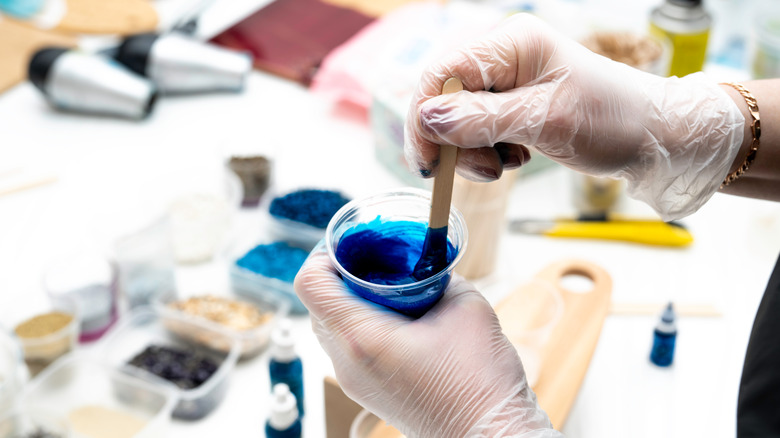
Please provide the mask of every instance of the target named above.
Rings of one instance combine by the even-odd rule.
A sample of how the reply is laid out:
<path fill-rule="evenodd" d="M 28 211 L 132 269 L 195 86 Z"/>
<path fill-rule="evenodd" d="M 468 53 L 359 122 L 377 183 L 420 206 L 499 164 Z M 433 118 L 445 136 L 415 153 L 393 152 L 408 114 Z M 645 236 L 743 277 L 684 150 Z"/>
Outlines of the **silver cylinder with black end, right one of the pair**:
<path fill-rule="evenodd" d="M 116 58 L 157 85 L 163 94 L 243 90 L 252 57 L 176 32 L 124 40 Z"/>

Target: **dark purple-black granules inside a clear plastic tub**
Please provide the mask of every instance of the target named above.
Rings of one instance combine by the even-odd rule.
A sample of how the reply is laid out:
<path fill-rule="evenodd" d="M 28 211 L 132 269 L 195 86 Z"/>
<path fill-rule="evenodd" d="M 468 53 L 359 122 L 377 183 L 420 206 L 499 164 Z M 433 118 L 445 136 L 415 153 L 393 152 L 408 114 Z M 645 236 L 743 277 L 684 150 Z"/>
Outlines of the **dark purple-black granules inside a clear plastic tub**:
<path fill-rule="evenodd" d="M 185 390 L 199 387 L 219 368 L 206 355 L 157 345 L 146 347 L 128 363 Z"/>

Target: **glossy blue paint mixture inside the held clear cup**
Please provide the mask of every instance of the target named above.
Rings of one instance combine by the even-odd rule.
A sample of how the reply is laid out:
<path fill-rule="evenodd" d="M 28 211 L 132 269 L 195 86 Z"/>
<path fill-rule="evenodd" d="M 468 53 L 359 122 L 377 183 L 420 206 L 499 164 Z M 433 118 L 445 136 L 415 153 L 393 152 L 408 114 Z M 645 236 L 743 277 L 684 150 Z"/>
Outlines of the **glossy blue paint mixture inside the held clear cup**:
<path fill-rule="evenodd" d="M 347 285 L 363 298 L 402 313 L 412 316 L 425 313 L 436 304 L 450 280 L 450 275 L 445 275 L 430 284 L 411 287 L 412 283 L 421 280 L 413 274 L 427 229 L 427 225 L 420 222 L 376 218 L 346 230 L 335 250 L 339 264 L 361 280 L 399 287 L 393 291 L 377 291 L 345 279 Z M 456 248 L 447 241 L 447 265 L 456 255 Z M 439 272 L 431 271 L 428 277 Z"/>

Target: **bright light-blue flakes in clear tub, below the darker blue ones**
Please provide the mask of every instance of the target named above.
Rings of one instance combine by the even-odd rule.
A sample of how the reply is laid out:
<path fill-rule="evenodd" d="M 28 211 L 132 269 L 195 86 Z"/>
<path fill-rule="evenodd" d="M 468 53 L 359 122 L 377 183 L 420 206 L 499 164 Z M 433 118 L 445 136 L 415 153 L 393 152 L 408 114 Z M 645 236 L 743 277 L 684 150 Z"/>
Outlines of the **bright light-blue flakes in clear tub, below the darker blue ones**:
<path fill-rule="evenodd" d="M 309 253 L 287 242 L 257 245 L 236 261 L 236 265 L 269 278 L 291 283 Z"/>

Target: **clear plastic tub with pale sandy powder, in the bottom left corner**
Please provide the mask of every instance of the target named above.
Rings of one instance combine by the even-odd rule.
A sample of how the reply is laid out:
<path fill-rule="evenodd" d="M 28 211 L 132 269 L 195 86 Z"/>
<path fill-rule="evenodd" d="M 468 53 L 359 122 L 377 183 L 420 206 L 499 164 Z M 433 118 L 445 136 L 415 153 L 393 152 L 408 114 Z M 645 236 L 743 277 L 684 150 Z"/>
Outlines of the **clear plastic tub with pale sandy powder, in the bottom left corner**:
<path fill-rule="evenodd" d="M 26 412 L 45 412 L 65 419 L 87 406 L 133 416 L 145 422 L 133 438 L 165 437 L 175 403 L 176 394 L 168 386 L 155 385 L 78 353 L 63 357 L 34 379 L 21 400 Z"/>

